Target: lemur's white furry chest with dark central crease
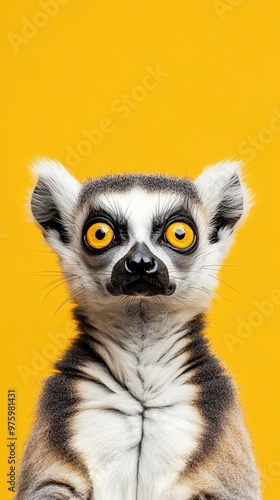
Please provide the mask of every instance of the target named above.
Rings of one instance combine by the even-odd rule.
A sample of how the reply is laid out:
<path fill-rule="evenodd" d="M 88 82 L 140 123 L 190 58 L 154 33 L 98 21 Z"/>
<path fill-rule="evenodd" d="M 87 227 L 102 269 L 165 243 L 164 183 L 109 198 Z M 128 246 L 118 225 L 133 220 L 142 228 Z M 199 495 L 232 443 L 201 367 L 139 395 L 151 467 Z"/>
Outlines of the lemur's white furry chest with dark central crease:
<path fill-rule="evenodd" d="M 95 380 L 77 383 L 72 446 L 88 469 L 94 500 L 191 498 L 179 481 L 201 433 L 196 388 L 149 365 L 131 370 L 124 385 L 100 368 L 90 372 Z"/>

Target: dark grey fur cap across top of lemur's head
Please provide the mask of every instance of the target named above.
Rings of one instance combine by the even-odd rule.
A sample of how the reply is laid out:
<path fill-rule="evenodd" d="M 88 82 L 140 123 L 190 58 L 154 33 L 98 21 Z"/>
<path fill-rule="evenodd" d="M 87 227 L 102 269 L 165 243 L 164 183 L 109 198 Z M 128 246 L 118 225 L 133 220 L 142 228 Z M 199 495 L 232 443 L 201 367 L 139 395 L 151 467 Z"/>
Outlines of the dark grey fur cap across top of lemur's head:
<path fill-rule="evenodd" d="M 134 187 L 141 187 L 153 193 L 156 191 L 171 191 L 198 200 L 198 194 L 194 183 L 189 179 L 169 177 L 167 175 L 115 175 L 105 176 L 99 179 L 91 179 L 84 184 L 80 203 L 88 200 L 92 194 L 99 195 L 106 192 L 124 192 Z"/>

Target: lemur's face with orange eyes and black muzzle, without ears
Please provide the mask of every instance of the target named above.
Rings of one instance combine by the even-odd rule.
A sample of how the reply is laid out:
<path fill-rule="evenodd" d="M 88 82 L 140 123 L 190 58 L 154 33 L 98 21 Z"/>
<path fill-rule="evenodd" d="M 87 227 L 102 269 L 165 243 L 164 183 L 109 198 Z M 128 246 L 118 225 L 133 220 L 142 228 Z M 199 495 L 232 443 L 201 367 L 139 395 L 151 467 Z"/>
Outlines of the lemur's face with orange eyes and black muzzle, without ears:
<path fill-rule="evenodd" d="M 184 199 L 166 188 L 151 192 L 139 179 L 140 186 L 112 193 L 106 192 L 112 180 L 103 182 L 102 194 L 94 182 L 82 193 L 81 258 L 92 279 L 98 275 L 113 296 L 173 294 L 176 276 L 187 272 L 198 246 L 195 190 L 186 185 Z"/>

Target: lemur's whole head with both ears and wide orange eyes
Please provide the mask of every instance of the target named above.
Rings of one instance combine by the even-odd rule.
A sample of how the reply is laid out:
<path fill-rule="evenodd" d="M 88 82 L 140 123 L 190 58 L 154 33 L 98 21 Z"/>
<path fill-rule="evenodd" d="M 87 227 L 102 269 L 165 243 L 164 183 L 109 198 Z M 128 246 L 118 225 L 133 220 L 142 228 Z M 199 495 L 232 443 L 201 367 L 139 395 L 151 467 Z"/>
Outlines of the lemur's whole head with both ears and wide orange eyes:
<path fill-rule="evenodd" d="M 31 209 L 77 303 L 157 297 L 202 311 L 250 204 L 239 170 L 223 162 L 195 181 L 118 175 L 80 184 L 58 162 L 41 160 Z"/>

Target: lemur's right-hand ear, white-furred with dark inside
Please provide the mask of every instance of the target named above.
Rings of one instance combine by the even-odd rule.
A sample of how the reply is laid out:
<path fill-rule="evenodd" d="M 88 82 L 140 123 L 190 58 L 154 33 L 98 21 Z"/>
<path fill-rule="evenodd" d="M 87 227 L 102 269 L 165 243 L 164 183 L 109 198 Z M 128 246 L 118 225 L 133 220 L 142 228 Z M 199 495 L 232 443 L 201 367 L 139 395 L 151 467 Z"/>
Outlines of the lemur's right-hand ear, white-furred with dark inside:
<path fill-rule="evenodd" d="M 241 163 L 225 161 L 205 169 L 196 179 L 210 221 L 210 241 L 216 243 L 243 220 L 251 195 L 241 178 Z"/>

